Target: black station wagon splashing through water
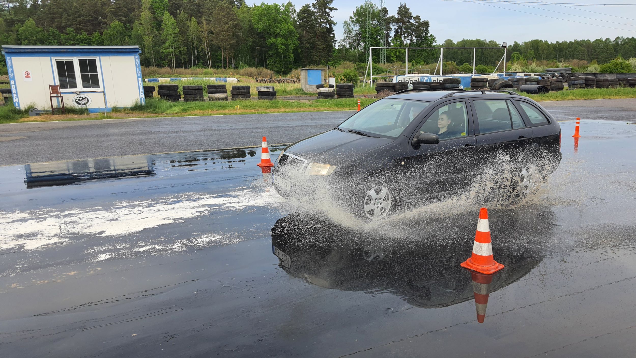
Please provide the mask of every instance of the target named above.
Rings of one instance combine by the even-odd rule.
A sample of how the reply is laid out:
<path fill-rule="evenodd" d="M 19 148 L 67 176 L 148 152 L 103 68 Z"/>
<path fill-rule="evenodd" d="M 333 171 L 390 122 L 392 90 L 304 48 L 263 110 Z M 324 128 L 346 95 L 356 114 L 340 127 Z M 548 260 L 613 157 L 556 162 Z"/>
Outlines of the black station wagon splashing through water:
<path fill-rule="evenodd" d="M 506 171 L 497 185 L 516 201 L 556 169 L 560 137 L 555 118 L 515 92 L 405 90 L 286 147 L 273 183 L 286 198 L 326 189 L 371 220 L 469 190 L 486 172 Z"/>

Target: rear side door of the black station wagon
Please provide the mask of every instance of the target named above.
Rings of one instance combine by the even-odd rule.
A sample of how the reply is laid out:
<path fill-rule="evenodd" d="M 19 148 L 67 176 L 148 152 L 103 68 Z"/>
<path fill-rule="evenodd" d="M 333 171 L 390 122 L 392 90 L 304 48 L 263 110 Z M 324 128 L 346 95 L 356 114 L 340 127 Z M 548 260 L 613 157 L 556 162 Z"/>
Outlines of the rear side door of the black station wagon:
<path fill-rule="evenodd" d="M 532 127 L 524 122 L 513 101 L 508 98 L 471 99 L 476 159 L 481 166 L 506 165 L 524 154 L 532 145 Z"/>

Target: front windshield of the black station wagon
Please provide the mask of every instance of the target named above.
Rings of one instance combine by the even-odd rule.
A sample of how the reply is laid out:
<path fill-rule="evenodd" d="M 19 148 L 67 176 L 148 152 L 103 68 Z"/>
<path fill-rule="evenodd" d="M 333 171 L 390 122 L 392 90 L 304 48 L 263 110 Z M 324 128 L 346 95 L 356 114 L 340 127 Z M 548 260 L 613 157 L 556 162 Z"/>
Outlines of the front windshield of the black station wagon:
<path fill-rule="evenodd" d="M 340 128 L 397 138 L 430 102 L 385 98 L 345 120 Z"/>

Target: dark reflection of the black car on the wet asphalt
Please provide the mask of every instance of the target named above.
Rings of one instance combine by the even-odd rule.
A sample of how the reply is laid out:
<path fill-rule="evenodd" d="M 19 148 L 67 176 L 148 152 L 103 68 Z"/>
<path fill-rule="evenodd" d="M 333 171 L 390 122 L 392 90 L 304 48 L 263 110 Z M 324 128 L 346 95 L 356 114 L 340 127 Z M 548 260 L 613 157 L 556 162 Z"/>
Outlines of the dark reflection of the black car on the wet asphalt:
<path fill-rule="evenodd" d="M 540 243 L 553 223 L 549 210 L 494 214 L 492 218 L 501 217 L 491 220 L 497 233 L 495 259 L 506 268 L 493 276 L 491 291 L 515 282 L 541 262 Z M 423 308 L 450 306 L 473 299 L 473 280 L 459 264 L 471 255 L 476 220 L 474 215 L 457 215 L 440 221 L 413 223 L 413 239 L 386 240 L 290 215 L 273 227 L 272 251 L 289 275 L 314 285 L 390 292 Z M 533 245 L 524 245 L 528 241 Z"/>

